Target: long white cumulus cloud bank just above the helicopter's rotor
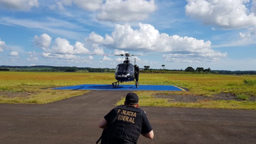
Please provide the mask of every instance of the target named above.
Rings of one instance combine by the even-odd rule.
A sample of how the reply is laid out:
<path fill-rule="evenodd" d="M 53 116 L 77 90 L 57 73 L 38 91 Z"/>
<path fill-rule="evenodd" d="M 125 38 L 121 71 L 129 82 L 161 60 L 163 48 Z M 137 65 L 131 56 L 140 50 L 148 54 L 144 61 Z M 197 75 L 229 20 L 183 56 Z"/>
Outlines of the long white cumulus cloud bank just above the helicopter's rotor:
<path fill-rule="evenodd" d="M 98 44 L 103 44 L 110 48 L 116 48 L 122 51 L 115 51 L 115 54 L 124 52 L 129 49 L 132 51 L 144 51 L 144 52 L 163 52 L 171 54 L 195 54 L 196 57 L 205 58 L 208 60 L 215 60 L 217 58 L 225 57 L 226 53 L 215 52 L 211 48 L 210 41 L 198 40 L 193 37 L 180 37 L 177 35 L 169 36 L 166 33 L 160 33 L 149 24 L 139 23 L 139 29 L 133 30 L 129 24 L 116 25 L 115 30 L 108 37 L 112 37 L 113 42 L 105 44 L 105 39 L 91 38 L 90 41 L 94 41 Z M 94 37 L 100 37 L 100 35 L 94 33 Z M 103 37 L 102 37 L 103 38 Z M 187 55 L 191 58 L 195 58 L 193 55 Z M 165 57 L 166 58 L 166 57 Z"/>

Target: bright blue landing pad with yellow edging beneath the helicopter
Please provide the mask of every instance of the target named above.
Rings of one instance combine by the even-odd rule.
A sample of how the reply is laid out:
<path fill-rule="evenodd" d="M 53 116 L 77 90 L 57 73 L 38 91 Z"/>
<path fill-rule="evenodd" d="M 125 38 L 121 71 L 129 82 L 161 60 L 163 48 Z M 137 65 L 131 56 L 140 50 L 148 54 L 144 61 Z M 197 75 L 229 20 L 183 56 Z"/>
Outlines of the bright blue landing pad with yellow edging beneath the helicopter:
<path fill-rule="evenodd" d="M 131 90 L 131 91 L 186 91 L 178 86 L 173 85 L 119 85 L 113 87 L 112 85 L 75 85 L 51 88 L 54 90 Z"/>

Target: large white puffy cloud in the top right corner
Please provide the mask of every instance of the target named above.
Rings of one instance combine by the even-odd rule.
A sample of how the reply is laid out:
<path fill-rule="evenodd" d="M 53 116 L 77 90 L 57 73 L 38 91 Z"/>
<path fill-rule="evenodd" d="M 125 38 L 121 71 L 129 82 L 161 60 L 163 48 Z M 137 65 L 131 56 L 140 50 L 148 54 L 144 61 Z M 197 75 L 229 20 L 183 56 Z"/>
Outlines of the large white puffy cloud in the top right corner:
<path fill-rule="evenodd" d="M 216 25 L 223 29 L 256 26 L 255 13 L 250 12 L 246 7 L 250 0 L 187 0 L 187 2 L 186 14 L 201 20 L 204 24 Z"/>

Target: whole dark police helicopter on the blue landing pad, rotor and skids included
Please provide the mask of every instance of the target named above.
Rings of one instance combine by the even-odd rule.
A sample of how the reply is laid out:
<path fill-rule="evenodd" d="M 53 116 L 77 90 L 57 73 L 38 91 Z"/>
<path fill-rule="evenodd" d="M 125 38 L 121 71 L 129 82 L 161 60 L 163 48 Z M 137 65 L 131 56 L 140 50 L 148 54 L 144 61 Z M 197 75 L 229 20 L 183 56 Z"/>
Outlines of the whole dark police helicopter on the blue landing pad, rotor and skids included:
<path fill-rule="evenodd" d="M 134 61 L 134 65 L 130 61 L 129 57 L 134 56 L 133 54 L 125 53 L 125 54 L 119 54 L 121 56 L 125 56 L 125 60 L 123 63 L 120 63 L 116 67 L 115 71 L 115 78 L 116 82 L 113 82 L 112 85 L 113 87 L 118 87 L 119 82 L 130 82 L 134 81 L 136 88 L 139 87 L 139 67 L 135 65 L 136 59 Z M 135 80 L 136 81 L 135 81 Z"/>

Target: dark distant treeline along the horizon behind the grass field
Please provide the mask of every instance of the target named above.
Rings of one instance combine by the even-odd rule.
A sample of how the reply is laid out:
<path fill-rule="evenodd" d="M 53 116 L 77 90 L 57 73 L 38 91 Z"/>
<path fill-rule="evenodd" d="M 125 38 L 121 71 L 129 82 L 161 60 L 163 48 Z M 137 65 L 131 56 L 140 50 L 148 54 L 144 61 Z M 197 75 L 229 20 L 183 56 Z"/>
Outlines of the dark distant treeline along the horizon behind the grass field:
<path fill-rule="evenodd" d="M 209 69 L 209 68 L 208 68 Z M 207 69 L 205 69 L 207 70 Z M 79 68 L 76 66 L 70 67 L 70 66 L 46 66 L 46 65 L 36 65 L 36 66 L 6 66 L 1 65 L 0 71 L 66 71 L 66 72 L 108 72 L 108 73 L 114 73 L 115 69 L 109 69 L 109 68 Z M 176 69 L 148 69 L 148 70 L 140 70 L 140 73 L 169 73 L 169 74 L 204 74 L 209 73 L 207 71 L 189 71 L 188 69 L 185 70 L 176 70 Z M 211 70 L 210 73 L 212 74 L 249 74 L 249 75 L 256 75 L 256 71 L 247 70 L 247 71 L 230 71 L 230 70 Z"/>

